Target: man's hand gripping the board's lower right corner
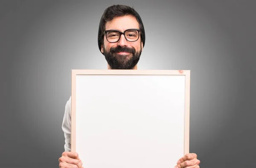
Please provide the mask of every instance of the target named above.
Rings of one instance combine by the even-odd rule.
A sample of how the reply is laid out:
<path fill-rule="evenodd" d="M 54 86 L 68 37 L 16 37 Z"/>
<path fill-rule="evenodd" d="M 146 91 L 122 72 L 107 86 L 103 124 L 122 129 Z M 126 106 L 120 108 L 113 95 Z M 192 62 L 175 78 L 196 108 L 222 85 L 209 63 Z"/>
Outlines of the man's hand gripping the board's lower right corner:
<path fill-rule="evenodd" d="M 177 161 L 175 168 L 199 168 L 199 164 L 197 154 L 186 154 Z"/>

